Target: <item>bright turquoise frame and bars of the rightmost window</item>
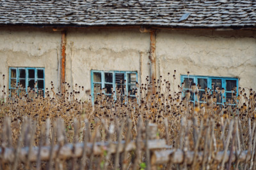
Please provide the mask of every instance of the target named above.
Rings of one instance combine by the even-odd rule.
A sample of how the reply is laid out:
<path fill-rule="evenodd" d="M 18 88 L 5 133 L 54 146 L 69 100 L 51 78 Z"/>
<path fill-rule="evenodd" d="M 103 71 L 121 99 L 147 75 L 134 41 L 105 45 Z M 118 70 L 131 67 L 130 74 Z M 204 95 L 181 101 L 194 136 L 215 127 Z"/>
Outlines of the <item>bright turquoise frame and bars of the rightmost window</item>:
<path fill-rule="evenodd" d="M 184 81 L 185 78 L 193 78 L 194 83 L 197 85 L 198 84 L 198 78 L 204 78 L 207 79 L 207 87 L 211 90 L 212 89 L 212 79 L 219 79 L 221 80 L 221 89 L 225 89 L 225 93 L 224 93 L 224 97 L 225 100 L 222 99 L 222 103 L 217 103 L 217 104 L 224 104 L 226 102 L 226 96 L 227 96 L 227 92 L 231 92 L 231 91 L 227 91 L 227 80 L 236 80 L 236 87 L 237 87 L 237 95 L 239 94 L 239 78 L 232 78 L 232 77 L 222 77 L 222 76 L 198 76 L 198 75 L 188 75 L 188 74 L 182 74 L 180 75 L 180 85 L 181 83 Z M 184 89 L 184 90 L 189 90 L 189 89 Z M 196 97 L 194 98 L 194 101 L 197 101 L 198 99 L 196 99 Z M 204 103 L 202 101 L 200 101 L 200 103 Z"/>

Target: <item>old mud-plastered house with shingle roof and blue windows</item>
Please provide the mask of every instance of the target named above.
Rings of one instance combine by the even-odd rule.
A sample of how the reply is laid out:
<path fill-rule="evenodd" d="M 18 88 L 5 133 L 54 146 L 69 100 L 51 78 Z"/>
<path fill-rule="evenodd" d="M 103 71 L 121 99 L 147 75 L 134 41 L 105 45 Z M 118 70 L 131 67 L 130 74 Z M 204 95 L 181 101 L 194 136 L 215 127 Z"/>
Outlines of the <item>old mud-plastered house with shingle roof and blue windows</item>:
<path fill-rule="evenodd" d="M 255 10 L 253 0 L 1 0 L 0 73 L 8 89 L 67 81 L 109 94 L 121 79 L 129 91 L 160 75 L 188 89 L 189 71 L 229 98 L 256 89 Z"/>

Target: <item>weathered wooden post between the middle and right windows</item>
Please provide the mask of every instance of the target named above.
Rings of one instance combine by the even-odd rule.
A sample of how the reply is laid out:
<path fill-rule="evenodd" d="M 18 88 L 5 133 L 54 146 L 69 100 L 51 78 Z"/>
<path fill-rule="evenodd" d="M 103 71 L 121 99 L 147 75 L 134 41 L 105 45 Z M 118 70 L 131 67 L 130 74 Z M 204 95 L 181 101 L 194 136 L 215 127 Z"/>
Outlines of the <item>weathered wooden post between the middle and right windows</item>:
<path fill-rule="evenodd" d="M 156 79 L 156 31 L 150 31 L 150 79 L 154 94 L 156 92 L 154 85 L 154 79 Z"/>

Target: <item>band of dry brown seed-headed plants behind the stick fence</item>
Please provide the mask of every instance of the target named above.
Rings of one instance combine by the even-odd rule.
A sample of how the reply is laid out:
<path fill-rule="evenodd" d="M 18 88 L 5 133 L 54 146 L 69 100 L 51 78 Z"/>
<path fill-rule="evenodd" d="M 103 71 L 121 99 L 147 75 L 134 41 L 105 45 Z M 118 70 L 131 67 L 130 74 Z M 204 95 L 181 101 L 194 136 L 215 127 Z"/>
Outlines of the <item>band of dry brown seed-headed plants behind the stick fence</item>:
<path fill-rule="evenodd" d="M 168 74 L 169 75 L 169 74 Z M 173 75 L 175 78 L 175 73 Z M 132 120 L 132 138 L 136 138 L 138 129 L 137 124 L 141 118 L 143 124 L 149 121 L 156 123 L 158 127 L 158 138 L 167 139 L 168 145 L 174 148 L 188 147 L 194 150 L 196 143 L 193 140 L 193 128 L 212 126 L 212 133 L 216 136 L 216 147 L 223 150 L 225 141 L 223 136 L 227 137 L 228 124 L 233 118 L 238 118 L 241 123 L 239 132 L 243 134 L 244 147 L 250 144 L 250 133 L 252 133 L 252 125 L 255 122 L 256 110 L 256 94 L 250 89 L 250 95 L 245 94 L 244 90 L 239 87 L 239 95 L 234 95 L 231 101 L 223 106 L 216 104 L 216 96 L 220 95 L 220 89 L 211 92 L 205 90 L 205 103 L 192 103 L 189 101 L 189 92 L 183 96 L 183 83 L 179 86 L 179 91 L 174 92 L 170 82 L 155 80 L 150 83 L 148 78 L 146 83 L 137 84 L 138 89 L 135 90 L 136 97 L 121 96 L 122 89 L 113 89 L 113 94 L 108 97 L 102 89 L 100 94 L 95 94 L 95 101 L 81 101 L 81 94 L 90 95 L 88 91 L 78 85 L 74 86 L 74 90 L 68 83 L 64 84 L 65 93 L 56 92 L 52 84 L 51 90 L 45 89 L 45 97 L 35 97 L 35 94 L 8 94 L 5 87 L 1 95 L 0 106 L 0 125 L 3 125 L 3 119 L 10 117 L 12 125 L 12 141 L 13 146 L 16 145 L 19 138 L 21 124 L 26 118 L 36 121 L 35 141 L 34 145 L 38 145 L 39 136 L 42 126 L 45 125 L 47 119 L 54 122 L 56 118 L 61 117 L 65 122 L 66 139 L 68 142 L 74 141 L 74 120 L 79 122 L 77 141 L 83 141 L 84 120 L 90 123 L 90 132 L 99 129 L 97 141 L 108 140 L 105 130 L 109 129 L 109 125 L 115 122 L 116 127 L 124 124 L 124 132 L 127 129 L 127 119 Z M 19 85 L 17 90 L 19 89 Z M 197 91 L 199 87 L 191 85 L 191 89 Z M 154 91 L 154 92 L 153 92 Z M 90 93 L 90 92 L 89 92 Z M 11 97 L 10 97 L 11 96 Z M 196 92 L 196 96 L 199 94 Z M 234 105 L 236 104 L 236 105 Z M 185 118 L 185 119 L 184 119 Z M 196 119 L 195 119 L 196 118 Z M 228 120 L 228 121 L 225 121 Z M 230 121 L 229 121 L 230 120 Z M 196 122 L 195 122 L 196 121 Z M 209 122 L 210 121 L 210 122 Z M 194 122 L 194 123 L 192 123 Z M 188 127 L 193 124 L 194 127 Z M 250 124 L 250 125 L 249 125 Z M 196 127 L 197 126 L 197 127 Z M 166 131 L 166 127 L 168 131 Z M 0 129 L 2 131 L 3 129 Z M 210 130 L 209 130 L 210 131 Z M 202 136 L 209 134 L 207 128 L 202 131 Z M 117 132 L 117 131 L 116 131 Z M 122 134 L 125 139 L 125 133 Z M 184 139 L 188 138 L 188 139 Z M 113 139 L 116 141 L 115 139 Z M 204 150 L 204 138 L 200 139 L 202 145 L 198 146 L 198 150 Z M 188 143 L 185 143 L 188 141 Z"/>

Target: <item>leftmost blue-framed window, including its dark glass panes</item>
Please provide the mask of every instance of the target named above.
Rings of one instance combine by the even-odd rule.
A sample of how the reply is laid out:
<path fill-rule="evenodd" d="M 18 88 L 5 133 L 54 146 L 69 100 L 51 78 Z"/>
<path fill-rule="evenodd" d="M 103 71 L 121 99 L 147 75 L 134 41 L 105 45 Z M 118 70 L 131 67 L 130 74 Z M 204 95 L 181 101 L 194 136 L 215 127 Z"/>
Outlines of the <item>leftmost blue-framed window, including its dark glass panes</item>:
<path fill-rule="evenodd" d="M 10 67 L 9 89 L 11 93 L 34 92 L 44 96 L 44 68 Z M 30 91 L 28 91 L 30 90 Z"/>

